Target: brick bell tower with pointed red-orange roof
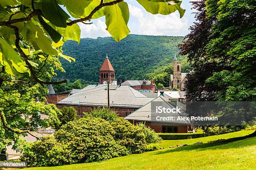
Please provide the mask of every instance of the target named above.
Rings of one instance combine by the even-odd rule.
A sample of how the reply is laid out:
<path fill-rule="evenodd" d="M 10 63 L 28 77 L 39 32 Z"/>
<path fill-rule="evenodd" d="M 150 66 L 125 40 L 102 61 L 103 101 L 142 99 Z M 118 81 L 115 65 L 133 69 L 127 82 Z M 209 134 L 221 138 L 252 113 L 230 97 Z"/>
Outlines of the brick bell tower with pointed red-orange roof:
<path fill-rule="evenodd" d="M 99 82 L 100 84 L 103 84 L 104 82 L 108 82 L 110 85 L 116 84 L 115 80 L 115 70 L 113 66 L 110 63 L 110 60 L 108 59 L 108 54 L 106 54 L 106 58 L 100 67 L 99 71 Z"/>

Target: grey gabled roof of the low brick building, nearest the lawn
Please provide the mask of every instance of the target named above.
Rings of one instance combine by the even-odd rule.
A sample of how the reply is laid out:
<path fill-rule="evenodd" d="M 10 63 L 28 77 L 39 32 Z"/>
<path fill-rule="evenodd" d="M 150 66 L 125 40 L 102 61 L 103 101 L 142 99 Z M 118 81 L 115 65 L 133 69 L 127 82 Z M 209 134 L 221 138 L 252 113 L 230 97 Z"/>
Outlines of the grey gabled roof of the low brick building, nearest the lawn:
<path fill-rule="evenodd" d="M 135 121 L 147 121 L 147 122 L 161 122 L 161 123 L 171 123 L 173 125 L 189 125 L 190 122 L 186 120 L 169 120 L 169 121 L 162 121 L 156 120 L 156 116 L 184 116 L 182 113 L 156 113 L 155 109 L 156 106 L 166 107 L 166 108 L 175 108 L 176 106 L 171 105 L 168 102 L 168 99 L 163 95 L 160 95 L 156 99 L 152 100 L 148 104 L 144 105 L 140 109 L 132 112 L 130 115 L 126 116 L 125 119 L 127 120 L 135 120 Z M 178 108 L 185 107 L 180 102 L 177 102 Z"/>

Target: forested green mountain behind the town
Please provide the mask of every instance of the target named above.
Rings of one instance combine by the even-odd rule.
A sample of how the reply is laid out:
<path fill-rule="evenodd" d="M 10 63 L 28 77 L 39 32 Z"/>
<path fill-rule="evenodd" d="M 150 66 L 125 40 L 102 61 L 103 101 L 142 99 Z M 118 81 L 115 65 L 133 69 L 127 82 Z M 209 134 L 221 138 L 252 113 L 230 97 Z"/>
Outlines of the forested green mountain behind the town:
<path fill-rule="evenodd" d="M 179 57 L 179 50 L 176 47 L 183 38 L 128 35 L 120 42 L 115 42 L 112 37 L 83 38 L 79 45 L 68 40 L 63 45 L 63 52 L 74 57 L 76 62 L 69 63 L 63 60 L 62 65 L 66 72 L 58 73 L 57 78 L 98 82 L 98 70 L 105 60 L 106 53 L 118 80 L 149 79 L 159 71 L 169 74 L 175 54 L 178 60 L 184 60 L 184 57 Z M 187 70 L 189 68 L 186 67 L 182 72 Z"/>

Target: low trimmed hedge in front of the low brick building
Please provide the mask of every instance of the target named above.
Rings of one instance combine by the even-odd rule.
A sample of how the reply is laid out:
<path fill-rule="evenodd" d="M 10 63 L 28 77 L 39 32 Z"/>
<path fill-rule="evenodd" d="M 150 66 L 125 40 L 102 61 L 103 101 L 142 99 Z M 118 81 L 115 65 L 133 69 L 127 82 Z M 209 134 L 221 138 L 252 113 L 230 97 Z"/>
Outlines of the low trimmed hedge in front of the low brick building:
<path fill-rule="evenodd" d="M 157 133 L 163 140 L 179 140 L 205 137 L 203 133 Z"/>

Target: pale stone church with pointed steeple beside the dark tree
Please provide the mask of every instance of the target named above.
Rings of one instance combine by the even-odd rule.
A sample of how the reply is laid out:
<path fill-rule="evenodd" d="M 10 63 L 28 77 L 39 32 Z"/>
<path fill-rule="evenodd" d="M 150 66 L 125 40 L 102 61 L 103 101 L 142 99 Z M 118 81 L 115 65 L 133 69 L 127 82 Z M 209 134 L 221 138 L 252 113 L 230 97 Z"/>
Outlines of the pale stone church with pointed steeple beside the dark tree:
<path fill-rule="evenodd" d="M 187 73 L 181 72 L 181 62 L 177 61 L 176 55 L 173 59 L 173 75 L 170 76 L 169 89 L 172 90 L 174 87 L 183 91 Z"/>

